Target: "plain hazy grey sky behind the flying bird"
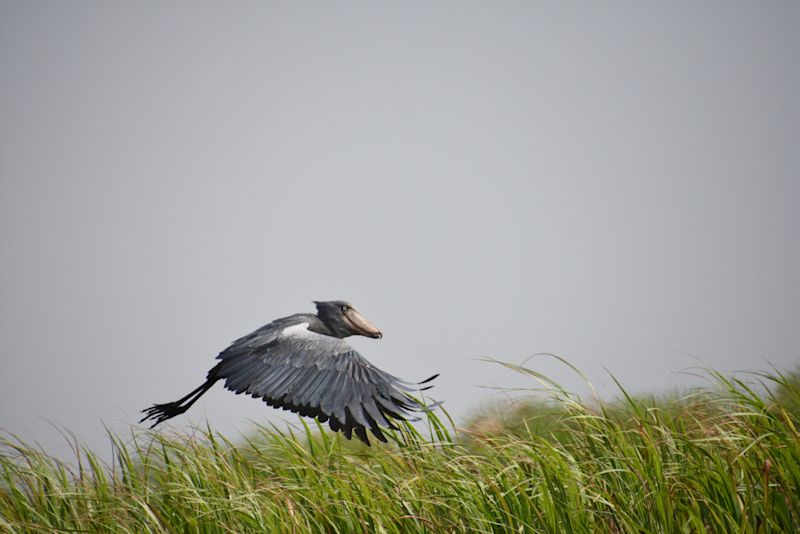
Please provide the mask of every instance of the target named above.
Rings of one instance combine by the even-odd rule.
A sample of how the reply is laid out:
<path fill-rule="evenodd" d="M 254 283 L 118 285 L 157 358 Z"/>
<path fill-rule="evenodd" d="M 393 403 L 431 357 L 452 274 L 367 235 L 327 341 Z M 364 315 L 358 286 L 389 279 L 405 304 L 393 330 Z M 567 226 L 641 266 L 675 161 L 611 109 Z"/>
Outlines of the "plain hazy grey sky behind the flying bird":
<path fill-rule="evenodd" d="M 457 418 L 528 384 L 482 356 L 638 392 L 689 354 L 791 367 L 799 28 L 795 2 L 4 1 L 0 427 L 107 446 L 312 299 Z M 173 426 L 279 413 L 218 385 Z"/>

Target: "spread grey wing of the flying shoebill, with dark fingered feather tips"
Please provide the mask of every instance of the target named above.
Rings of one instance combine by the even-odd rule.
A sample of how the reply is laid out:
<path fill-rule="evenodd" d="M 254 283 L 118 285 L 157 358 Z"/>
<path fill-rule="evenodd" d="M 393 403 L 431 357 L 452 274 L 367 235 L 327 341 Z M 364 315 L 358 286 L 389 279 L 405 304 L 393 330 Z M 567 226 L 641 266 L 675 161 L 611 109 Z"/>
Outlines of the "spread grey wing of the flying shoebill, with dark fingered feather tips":
<path fill-rule="evenodd" d="M 308 322 L 272 324 L 223 351 L 213 370 L 235 393 L 270 406 L 328 421 L 349 439 L 369 445 L 366 429 L 385 442 L 381 427 L 410 419 L 424 406 L 409 396 L 411 384 L 370 364 L 343 340 L 308 330 Z M 421 382 L 433 380 L 435 376 Z"/>

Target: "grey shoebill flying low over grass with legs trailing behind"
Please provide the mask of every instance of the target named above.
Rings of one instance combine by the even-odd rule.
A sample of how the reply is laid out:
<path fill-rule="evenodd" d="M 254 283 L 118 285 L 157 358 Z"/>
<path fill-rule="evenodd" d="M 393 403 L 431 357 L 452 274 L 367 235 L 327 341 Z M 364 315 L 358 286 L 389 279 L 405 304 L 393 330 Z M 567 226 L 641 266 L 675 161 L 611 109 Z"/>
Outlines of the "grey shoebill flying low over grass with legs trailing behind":
<path fill-rule="evenodd" d="M 381 427 L 397 429 L 393 419 L 412 419 L 428 409 L 408 394 L 439 376 L 416 384 L 405 382 L 369 363 L 343 338 L 383 334 L 352 304 L 314 301 L 317 313 L 276 319 L 234 341 L 223 350 L 200 387 L 166 404 L 142 410 L 150 428 L 180 415 L 218 380 L 237 395 L 248 393 L 269 406 L 328 421 L 347 439 L 353 433 L 369 445 L 367 429 L 386 442 Z M 416 388 L 414 386 L 417 386 Z"/>

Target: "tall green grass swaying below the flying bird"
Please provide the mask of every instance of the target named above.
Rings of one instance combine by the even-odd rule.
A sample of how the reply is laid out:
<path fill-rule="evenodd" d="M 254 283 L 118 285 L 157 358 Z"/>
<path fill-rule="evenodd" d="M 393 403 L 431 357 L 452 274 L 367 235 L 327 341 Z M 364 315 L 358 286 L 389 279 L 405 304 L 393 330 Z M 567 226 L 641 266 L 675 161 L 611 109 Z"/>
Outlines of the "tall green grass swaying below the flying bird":
<path fill-rule="evenodd" d="M 506 364 L 508 365 L 508 364 Z M 104 465 L 0 445 L 4 532 L 798 532 L 795 376 L 667 400 L 552 398 L 367 448 L 316 425 L 233 443 L 134 431 Z M 756 381 L 756 387 L 752 385 Z M 758 381 L 761 384 L 758 384 Z"/>

